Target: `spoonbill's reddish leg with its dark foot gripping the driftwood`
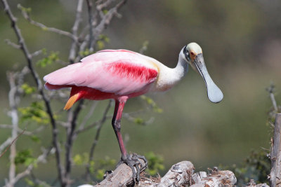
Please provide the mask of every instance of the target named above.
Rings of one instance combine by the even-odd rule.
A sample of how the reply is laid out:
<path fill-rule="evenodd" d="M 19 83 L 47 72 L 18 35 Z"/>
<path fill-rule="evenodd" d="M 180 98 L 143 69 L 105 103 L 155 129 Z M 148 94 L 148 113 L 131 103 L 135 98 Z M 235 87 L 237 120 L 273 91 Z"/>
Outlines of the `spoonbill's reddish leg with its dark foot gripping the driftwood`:
<path fill-rule="evenodd" d="M 126 163 L 129 167 L 131 167 L 132 172 L 133 172 L 133 181 L 137 182 L 140 179 L 140 172 L 142 172 L 146 167 L 148 161 L 145 159 L 144 156 L 137 155 L 135 153 L 133 154 L 127 154 L 126 148 L 124 146 L 124 142 L 122 139 L 122 134 L 121 134 L 121 118 L 122 118 L 122 112 L 124 109 L 124 105 L 126 103 L 126 99 L 116 99 L 115 100 L 115 112 L 112 118 L 112 127 L 115 130 L 115 134 L 119 143 L 119 147 L 121 150 L 122 158 L 121 162 L 119 163 Z M 145 161 L 145 165 L 141 165 L 141 162 L 139 159 L 142 159 Z M 135 169 L 136 168 L 136 169 Z"/>

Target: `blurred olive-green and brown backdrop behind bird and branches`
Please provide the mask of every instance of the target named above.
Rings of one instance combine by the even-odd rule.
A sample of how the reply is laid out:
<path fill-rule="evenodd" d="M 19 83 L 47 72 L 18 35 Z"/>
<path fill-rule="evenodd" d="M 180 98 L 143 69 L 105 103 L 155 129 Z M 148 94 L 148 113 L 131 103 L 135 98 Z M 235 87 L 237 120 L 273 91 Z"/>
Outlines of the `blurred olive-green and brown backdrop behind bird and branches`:
<path fill-rule="evenodd" d="M 28 24 L 16 6 L 20 3 L 32 8 L 32 18 L 44 25 L 70 31 L 77 2 L 22 0 L 9 3 L 30 50 L 46 48 L 48 51 L 59 51 L 60 59 L 67 62 L 70 39 Z M 209 102 L 204 81 L 190 69 L 183 81 L 173 89 L 164 94 L 149 95 L 163 109 L 162 113 L 148 111 L 142 114 L 145 119 L 154 116 L 152 124 L 142 126 L 122 120 L 122 134 L 129 134 L 127 150 L 141 155 L 154 151 L 164 157 L 166 169 L 181 160 L 190 160 L 196 169 L 204 170 L 221 163 L 239 165 L 251 149 L 268 148 L 270 128 L 266 122 L 271 102 L 265 89 L 271 81 L 277 87 L 277 102 L 281 102 L 278 95 L 281 89 L 280 10 L 281 2 L 277 0 L 211 0 L 208 3 L 204 0 L 127 1 L 119 11 L 122 18 L 114 18 L 105 31 L 110 39 L 105 48 L 138 51 L 144 41 L 149 41 L 145 55 L 154 57 L 166 66 L 175 67 L 181 48 L 195 41 L 203 49 L 209 74 L 224 94 L 221 103 Z M 10 26 L 1 5 L 0 118 L 4 124 L 11 123 L 6 115 L 9 109 L 6 71 L 19 69 L 26 64 L 21 51 L 4 42 L 4 39 L 16 41 Z M 43 77 L 59 67 L 62 65 L 36 68 Z M 26 81 L 33 84 L 31 78 Z M 30 100 L 30 97 L 25 97 L 21 106 L 28 106 Z M 106 104 L 107 101 L 98 104 L 91 120 L 100 118 Z M 56 111 L 63 108 L 63 102 L 52 105 Z M 141 99 L 134 98 L 129 100 L 124 111 L 137 111 L 141 107 L 145 109 Z M 80 121 L 87 109 L 81 113 Z M 28 124 L 24 127 L 27 130 L 30 128 Z M 60 132 L 60 139 L 65 140 L 63 129 Z M 92 129 L 77 138 L 73 155 L 89 151 L 95 132 Z M 39 134 L 42 144 L 51 144 L 50 133 L 51 128 L 47 127 Z M 10 130 L 0 130 L 0 142 L 9 134 Z M 20 137 L 17 146 L 19 150 L 34 149 L 34 155 L 40 148 L 28 137 Z M 94 156 L 104 158 L 105 155 L 119 160 L 119 147 L 110 120 L 103 127 Z M 0 165 L 2 181 L 8 176 L 8 153 L 0 158 Z M 54 160 L 50 159 L 48 165 L 39 165 L 34 172 L 41 179 L 54 178 Z M 79 172 L 81 168 L 73 169 L 73 174 Z"/>

